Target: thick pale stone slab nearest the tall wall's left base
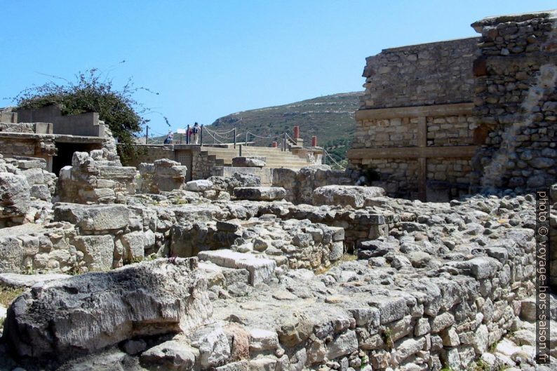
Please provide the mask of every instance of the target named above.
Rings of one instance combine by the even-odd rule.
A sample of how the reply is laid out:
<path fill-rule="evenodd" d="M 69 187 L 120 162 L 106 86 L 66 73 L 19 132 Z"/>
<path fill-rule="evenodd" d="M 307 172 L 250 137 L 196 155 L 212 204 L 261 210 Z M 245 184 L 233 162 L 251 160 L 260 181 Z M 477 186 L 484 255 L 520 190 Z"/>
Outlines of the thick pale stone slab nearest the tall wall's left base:
<path fill-rule="evenodd" d="M 368 206 L 368 199 L 384 196 L 380 187 L 330 185 L 314 189 L 314 205 L 351 205 L 353 208 Z M 371 205 L 369 205 L 371 206 Z"/>

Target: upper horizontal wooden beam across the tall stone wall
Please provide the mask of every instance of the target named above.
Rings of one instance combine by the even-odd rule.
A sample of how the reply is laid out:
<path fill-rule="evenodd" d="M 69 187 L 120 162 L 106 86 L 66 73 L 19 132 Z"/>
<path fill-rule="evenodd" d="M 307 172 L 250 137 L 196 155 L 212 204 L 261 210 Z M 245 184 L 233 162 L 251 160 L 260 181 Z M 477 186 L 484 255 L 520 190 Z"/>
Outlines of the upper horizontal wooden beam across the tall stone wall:
<path fill-rule="evenodd" d="M 437 116 L 460 116 L 472 114 L 474 103 L 434 104 L 431 106 L 415 107 L 392 107 L 378 109 L 358 109 L 356 121 L 361 120 L 384 120 L 402 117 L 437 117 Z"/>

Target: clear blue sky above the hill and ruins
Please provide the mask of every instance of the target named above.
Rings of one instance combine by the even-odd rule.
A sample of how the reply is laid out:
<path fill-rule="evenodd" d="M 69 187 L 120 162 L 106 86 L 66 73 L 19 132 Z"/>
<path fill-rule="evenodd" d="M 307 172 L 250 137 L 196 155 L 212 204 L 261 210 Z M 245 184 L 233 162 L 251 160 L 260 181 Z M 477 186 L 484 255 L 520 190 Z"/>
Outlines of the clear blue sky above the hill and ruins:
<path fill-rule="evenodd" d="M 23 88 L 97 67 L 159 95 L 137 100 L 172 129 L 226 114 L 362 90 L 383 48 L 477 34 L 489 15 L 555 1 L 0 0 L 0 107 Z M 121 60 L 125 63 L 119 64 Z M 168 127 L 157 114 L 152 130 Z"/>

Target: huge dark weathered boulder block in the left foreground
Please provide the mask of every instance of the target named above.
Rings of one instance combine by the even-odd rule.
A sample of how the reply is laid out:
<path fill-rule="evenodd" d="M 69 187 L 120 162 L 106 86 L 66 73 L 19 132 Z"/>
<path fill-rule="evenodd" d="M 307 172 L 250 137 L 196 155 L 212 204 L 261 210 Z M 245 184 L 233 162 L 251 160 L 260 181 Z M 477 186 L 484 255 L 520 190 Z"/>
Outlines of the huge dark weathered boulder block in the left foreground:
<path fill-rule="evenodd" d="M 36 285 L 8 309 L 4 340 L 19 356 L 62 360 L 135 336 L 189 330 L 212 312 L 196 265 L 157 259 Z"/>

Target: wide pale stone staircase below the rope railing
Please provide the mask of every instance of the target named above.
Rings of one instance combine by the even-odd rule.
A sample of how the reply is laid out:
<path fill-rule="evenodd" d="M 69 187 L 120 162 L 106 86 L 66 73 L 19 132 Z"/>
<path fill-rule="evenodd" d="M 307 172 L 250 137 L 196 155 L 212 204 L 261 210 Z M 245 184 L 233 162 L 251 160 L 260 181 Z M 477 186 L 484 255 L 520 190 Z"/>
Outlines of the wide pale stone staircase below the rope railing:
<path fill-rule="evenodd" d="M 201 156 L 214 156 L 217 166 L 232 166 L 232 158 L 239 156 L 239 147 L 201 147 Z M 267 158 L 267 168 L 300 169 L 308 166 L 306 159 L 295 156 L 290 151 L 271 147 L 243 147 L 242 156 L 260 156 Z"/>

